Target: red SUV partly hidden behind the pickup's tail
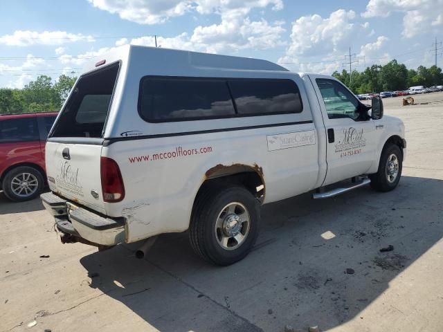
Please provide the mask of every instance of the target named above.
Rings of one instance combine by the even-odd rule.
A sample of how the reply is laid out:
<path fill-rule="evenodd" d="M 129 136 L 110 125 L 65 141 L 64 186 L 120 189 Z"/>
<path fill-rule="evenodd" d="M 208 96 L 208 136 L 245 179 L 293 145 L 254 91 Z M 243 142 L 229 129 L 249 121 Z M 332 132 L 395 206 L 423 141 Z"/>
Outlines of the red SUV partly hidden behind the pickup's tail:
<path fill-rule="evenodd" d="M 44 145 L 57 113 L 0 116 L 0 189 L 27 201 L 45 187 Z"/>

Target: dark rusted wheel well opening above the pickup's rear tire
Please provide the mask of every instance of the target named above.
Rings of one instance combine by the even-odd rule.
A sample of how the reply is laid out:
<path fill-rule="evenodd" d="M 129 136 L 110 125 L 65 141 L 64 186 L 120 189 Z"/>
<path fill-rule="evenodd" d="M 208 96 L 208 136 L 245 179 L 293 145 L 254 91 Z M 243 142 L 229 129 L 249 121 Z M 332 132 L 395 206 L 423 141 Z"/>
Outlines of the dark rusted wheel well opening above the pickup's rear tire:
<path fill-rule="evenodd" d="M 258 165 L 217 165 L 208 169 L 205 177 L 206 179 L 201 184 L 197 196 L 210 186 L 233 184 L 242 185 L 255 197 L 264 199 L 265 186 L 263 171 L 262 167 Z"/>

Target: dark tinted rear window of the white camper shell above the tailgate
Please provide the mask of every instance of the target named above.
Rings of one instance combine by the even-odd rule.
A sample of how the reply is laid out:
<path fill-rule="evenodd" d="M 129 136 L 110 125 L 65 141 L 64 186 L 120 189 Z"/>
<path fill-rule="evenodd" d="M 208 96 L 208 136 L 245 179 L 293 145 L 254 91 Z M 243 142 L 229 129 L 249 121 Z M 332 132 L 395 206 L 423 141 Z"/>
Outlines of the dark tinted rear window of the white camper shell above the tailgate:
<path fill-rule="evenodd" d="M 80 76 L 50 137 L 102 138 L 120 62 Z"/>

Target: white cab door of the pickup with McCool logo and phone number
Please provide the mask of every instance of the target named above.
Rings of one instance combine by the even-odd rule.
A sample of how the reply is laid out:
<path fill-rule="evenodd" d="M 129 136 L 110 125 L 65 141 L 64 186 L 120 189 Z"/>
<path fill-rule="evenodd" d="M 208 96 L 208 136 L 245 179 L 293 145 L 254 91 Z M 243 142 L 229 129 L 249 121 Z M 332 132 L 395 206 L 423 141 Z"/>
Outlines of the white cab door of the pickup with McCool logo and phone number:
<path fill-rule="evenodd" d="M 311 75 L 327 132 L 323 185 L 365 174 L 375 160 L 377 132 L 365 106 L 341 82 Z"/>

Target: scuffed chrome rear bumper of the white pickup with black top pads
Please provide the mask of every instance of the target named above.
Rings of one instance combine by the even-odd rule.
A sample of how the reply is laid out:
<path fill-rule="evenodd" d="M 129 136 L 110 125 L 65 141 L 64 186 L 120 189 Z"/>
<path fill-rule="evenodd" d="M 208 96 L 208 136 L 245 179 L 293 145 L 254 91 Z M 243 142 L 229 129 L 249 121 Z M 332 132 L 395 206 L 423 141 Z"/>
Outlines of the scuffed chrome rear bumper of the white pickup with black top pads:
<path fill-rule="evenodd" d="M 75 205 L 52 192 L 40 195 L 46 210 L 55 217 L 57 229 L 64 234 L 100 246 L 114 246 L 125 241 L 125 220 L 107 218 Z"/>

